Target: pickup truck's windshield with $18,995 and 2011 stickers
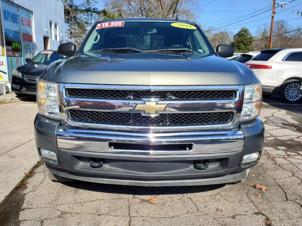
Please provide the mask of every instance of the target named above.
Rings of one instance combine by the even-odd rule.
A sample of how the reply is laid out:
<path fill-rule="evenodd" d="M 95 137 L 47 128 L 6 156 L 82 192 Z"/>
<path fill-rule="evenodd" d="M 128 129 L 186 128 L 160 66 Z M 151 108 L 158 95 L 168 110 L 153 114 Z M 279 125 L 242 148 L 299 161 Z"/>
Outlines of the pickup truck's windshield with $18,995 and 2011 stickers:
<path fill-rule="evenodd" d="M 214 54 L 193 24 L 166 21 L 113 21 L 99 23 L 81 48 L 82 52 L 125 48 L 139 51 L 199 52 Z M 183 49 L 183 50 L 181 50 Z"/>

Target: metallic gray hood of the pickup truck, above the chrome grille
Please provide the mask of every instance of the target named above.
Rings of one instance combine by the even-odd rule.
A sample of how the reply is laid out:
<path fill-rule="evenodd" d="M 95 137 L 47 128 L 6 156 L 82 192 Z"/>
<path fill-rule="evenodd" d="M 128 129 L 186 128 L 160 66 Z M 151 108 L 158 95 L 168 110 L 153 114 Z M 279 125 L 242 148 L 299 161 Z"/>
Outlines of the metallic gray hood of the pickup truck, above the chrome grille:
<path fill-rule="evenodd" d="M 52 64 L 45 79 L 109 85 L 243 85 L 257 80 L 241 63 L 215 55 L 201 56 L 87 52 Z"/>

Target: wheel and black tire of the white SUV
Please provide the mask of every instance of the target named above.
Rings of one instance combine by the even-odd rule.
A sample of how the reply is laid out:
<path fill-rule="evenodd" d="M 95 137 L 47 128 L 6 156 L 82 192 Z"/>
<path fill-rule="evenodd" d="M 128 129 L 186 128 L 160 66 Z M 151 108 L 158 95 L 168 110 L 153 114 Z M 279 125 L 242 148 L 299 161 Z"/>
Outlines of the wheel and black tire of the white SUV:
<path fill-rule="evenodd" d="M 278 91 L 279 99 L 284 103 L 296 104 L 301 102 L 301 82 L 299 80 L 291 80 L 280 86 Z"/>

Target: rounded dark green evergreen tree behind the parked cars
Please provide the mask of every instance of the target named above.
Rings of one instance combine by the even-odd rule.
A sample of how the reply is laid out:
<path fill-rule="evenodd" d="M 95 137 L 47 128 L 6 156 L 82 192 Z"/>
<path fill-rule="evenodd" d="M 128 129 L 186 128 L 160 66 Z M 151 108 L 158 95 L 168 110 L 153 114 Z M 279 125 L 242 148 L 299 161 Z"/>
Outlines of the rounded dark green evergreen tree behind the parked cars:
<path fill-rule="evenodd" d="M 231 42 L 231 46 L 235 52 L 250 52 L 253 50 L 252 44 L 254 38 L 249 32 L 249 29 L 243 27 L 237 34 L 234 35 L 234 41 Z"/>

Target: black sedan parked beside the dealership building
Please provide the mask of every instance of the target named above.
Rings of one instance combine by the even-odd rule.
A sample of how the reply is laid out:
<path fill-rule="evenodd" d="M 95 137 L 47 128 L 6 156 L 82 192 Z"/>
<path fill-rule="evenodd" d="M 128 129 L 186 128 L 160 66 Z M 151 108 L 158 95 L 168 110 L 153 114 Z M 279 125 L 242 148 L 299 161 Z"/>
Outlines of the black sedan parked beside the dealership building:
<path fill-rule="evenodd" d="M 57 50 L 43 50 L 32 60 L 26 59 L 26 64 L 14 69 L 12 76 L 12 91 L 16 94 L 36 95 L 37 80 L 48 64 L 63 59 Z"/>

